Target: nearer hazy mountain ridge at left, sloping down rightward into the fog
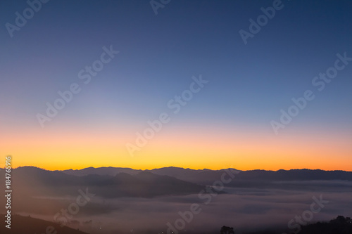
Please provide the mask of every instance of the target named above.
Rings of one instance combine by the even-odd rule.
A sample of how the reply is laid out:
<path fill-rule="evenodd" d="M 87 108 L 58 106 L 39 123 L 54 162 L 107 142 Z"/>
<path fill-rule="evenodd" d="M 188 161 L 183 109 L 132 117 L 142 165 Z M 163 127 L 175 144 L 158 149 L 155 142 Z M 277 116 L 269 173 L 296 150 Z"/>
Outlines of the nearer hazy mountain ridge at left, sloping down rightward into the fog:
<path fill-rule="evenodd" d="M 77 195 L 78 189 L 89 188 L 100 197 L 153 197 L 199 193 L 205 186 L 182 181 L 171 176 L 159 176 L 149 171 L 115 176 L 89 174 L 74 176 L 61 171 L 46 171 L 37 167 L 13 169 L 13 186 L 18 194 Z"/>

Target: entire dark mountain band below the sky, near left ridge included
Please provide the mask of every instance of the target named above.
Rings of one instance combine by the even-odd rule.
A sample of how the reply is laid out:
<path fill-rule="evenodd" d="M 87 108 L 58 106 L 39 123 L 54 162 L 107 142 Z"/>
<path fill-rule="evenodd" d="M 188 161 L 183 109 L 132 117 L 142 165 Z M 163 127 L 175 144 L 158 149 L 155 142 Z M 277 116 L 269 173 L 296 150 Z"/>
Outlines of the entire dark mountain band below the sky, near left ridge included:
<path fill-rule="evenodd" d="M 227 178 L 232 176 L 226 183 L 227 187 L 232 188 L 297 189 L 313 188 L 313 186 L 321 186 L 322 183 L 342 188 L 344 181 L 352 181 L 352 171 L 310 169 L 239 171 L 178 167 L 152 170 L 89 167 L 80 170 L 47 171 L 37 167 L 19 167 L 12 171 L 13 187 L 21 194 L 76 195 L 77 189 L 89 188 L 91 193 L 106 198 L 196 194 L 206 186 L 213 186 L 215 181 L 220 181 L 223 174 L 227 174 Z M 311 181 L 314 181 L 313 185 Z"/>

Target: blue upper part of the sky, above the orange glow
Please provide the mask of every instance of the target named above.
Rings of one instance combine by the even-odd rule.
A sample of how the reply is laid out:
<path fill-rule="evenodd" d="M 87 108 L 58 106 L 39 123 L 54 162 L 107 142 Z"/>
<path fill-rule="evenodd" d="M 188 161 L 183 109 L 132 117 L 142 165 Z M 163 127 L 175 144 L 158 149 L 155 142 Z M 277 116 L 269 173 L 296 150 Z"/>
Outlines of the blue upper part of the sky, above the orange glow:
<path fill-rule="evenodd" d="M 201 74 L 209 83 L 170 126 L 251 126 L 273 134 L 270 121 L 280 109 L 312 89 L 315 100 L 288 128 L 351 132 L 352 65 L 322 92 L 311 82 L 337 53 L 352 57 L 352 2 L 282 4 L 245 45 L 239 30 L 248 31 L 249 19 L 272 1 L 172 0 L 155 15 L 149 1 L 51 0 L 12 38 L 5 24 L 28 5 L 1 1 L 0 128 L 40 128 L 36 114 L 77 82 L 82 91 L 46 127 L 110 122 L 130 126 L 133 135 Z M 77 72 L 110 45 L 120 53 L 82 84 Z"/>

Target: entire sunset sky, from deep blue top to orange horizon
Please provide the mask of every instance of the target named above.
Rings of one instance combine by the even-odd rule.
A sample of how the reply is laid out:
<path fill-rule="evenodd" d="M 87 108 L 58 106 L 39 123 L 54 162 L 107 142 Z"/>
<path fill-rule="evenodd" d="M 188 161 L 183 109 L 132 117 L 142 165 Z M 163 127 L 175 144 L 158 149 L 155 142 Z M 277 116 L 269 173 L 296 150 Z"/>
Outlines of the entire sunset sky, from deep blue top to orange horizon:
<path fill-rule="evenodd" d="M 351 1 L 42 1 L 0 2 L 0 167 L 352 171 Z"/>

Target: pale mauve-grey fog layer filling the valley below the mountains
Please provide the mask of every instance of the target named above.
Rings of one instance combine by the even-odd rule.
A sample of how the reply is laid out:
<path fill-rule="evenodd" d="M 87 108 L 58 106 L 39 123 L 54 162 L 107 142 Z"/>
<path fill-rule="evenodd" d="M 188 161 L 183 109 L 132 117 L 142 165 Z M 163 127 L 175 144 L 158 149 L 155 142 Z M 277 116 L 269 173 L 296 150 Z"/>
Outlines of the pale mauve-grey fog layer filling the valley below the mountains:
<path fill-rule="evenodd" d="M 166 223 L 175 226 L 175 221 L 181 219 L 179 212 L 184 214 L 188 211 L 189 214 L 191 204 L 199 204 L 196 209 L 199 214 L 193 214 L 189 223 L 184 222 L 185 227 L 180 233 L 195 230 L 218 232 L 224 225 L 234 227 L 237 233 L 274 226 L 284 229 L 295 216 L 302 216 L 303 212 L 310 210 L 313 196 L 318 200 L 322 196 L 322 200 L 328 203 L 320 212 L 313 214 L 310 222 L 328 221 L 337 215 L 351 216 L 348 211 L 352 210 L 352 181 L 291 183 L 298 187 L 301 185 L 302 189 L 224 188 L 227 194 L 206 195 L 207 198 L 194 194 L 106 199 L 96 193 L 65 225 L 89 233 L 165 233 Z M 17 205 L 14 211 L 54 221 L 54 214 L 68 209 L 76 198 L 15 196 L 14 204 Z"/>

